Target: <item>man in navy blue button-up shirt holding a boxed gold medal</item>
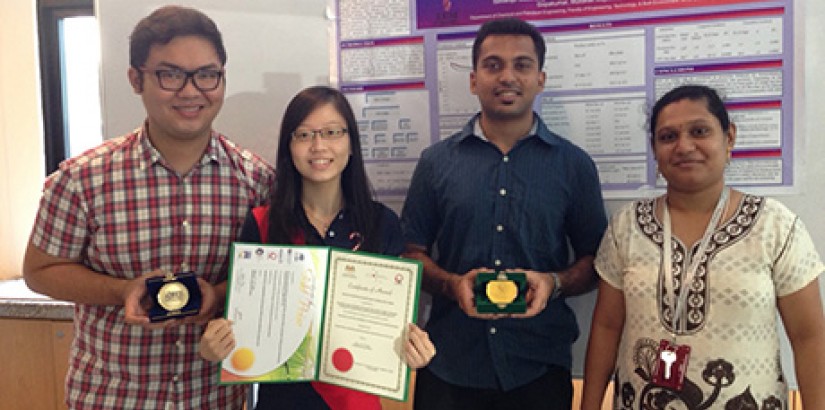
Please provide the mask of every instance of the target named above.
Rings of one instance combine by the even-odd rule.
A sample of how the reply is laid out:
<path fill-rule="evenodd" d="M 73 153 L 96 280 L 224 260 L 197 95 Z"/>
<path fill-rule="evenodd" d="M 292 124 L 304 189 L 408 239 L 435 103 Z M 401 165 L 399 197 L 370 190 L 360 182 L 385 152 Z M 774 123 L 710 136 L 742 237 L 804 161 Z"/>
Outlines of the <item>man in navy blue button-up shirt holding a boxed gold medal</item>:
<path fill-rule="evenodd" d="M 481 112 L 413 174 L 402 228 L 406 255 L 424 263 L 438 349 L 418 371 L 417 409 L 571 407 L 579 329 L 564 297 L 594 288 L 607 218 L 593 161 L 533 112 L 544 54 L 532 25 L 484 24 L 470 74 Z M 526 272 L 527 311 L 477 313 L 478 272 L 507 269 Z"/>

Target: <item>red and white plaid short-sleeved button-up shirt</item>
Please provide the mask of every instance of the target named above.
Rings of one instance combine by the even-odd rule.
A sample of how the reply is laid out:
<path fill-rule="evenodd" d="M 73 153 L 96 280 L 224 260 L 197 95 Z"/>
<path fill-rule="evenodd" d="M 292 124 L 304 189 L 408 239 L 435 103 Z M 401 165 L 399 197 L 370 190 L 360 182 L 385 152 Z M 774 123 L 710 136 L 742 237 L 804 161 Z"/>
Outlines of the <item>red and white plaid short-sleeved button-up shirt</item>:
<path fill-rule="evenodd" d="M 259 157 L 213 133 L 186 175 L 168 167 L 144 129 L 65 161 L 45 183 L 33 243 L 102 275 L 155 269 L 226 280 L 229 246 L 274 179 Z M 240 408 L 241 386 L 219 386 L 198 355 L 203 326 L 147 330 L 122 306 L 75 306 L 66 400 L 78 409 Z"/>

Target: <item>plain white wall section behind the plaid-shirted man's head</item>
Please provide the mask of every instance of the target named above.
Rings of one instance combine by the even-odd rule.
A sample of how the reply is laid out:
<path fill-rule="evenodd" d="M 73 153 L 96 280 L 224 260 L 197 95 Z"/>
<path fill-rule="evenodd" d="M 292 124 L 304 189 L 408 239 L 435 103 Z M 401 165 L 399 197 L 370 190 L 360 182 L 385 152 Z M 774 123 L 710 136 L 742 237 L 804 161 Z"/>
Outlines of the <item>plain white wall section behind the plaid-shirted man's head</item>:
<path fill-rule="evenodd" d="M 143 106 L 126 81 L 128 37 L 164 0 L 96 1 L 101 22 L 104 138 L 139 126 Z M 226 100 L 215 128 L 270 161 L 281 114 L 302 88 L 329 84 L 327 0 L 179 0 L 221 30 L 227 52 Z"/>

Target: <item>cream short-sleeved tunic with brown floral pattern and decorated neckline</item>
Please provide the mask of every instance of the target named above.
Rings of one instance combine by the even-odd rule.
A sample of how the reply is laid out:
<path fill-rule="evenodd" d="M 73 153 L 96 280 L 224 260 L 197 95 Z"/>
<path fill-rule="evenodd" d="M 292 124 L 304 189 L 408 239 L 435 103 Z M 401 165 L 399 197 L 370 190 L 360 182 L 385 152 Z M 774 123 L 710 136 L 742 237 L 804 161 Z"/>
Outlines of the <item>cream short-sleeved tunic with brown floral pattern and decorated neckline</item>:
<path fill-rule="evenodd" d="M 735 215 L 720 223 L 688 290 L 687 331 L 676 336 L 676 343 L 689 345 L 692 352 L 685 385 L 673 391 L 650 383 L 659 341 L 671 337 L 673 325 L 655 204 L 645 199 L 617 212 L 596 257 L 599 275 L 625 298 L 614 407 L 786 408 L 776 300 L 823 271 L 804 225 L 779 202 L 752 195 L 745 195 Z M 676 238 L 672 246 L 678 292 L 688 250 Z"/>

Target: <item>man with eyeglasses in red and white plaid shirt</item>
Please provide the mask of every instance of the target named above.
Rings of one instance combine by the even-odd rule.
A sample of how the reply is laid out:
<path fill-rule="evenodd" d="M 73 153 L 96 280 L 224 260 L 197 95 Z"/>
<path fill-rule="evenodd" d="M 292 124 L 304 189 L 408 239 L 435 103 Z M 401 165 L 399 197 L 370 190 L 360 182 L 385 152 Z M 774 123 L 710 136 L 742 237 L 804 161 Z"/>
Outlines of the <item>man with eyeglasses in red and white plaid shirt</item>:
<path fill-rule="evenodd" d="M 33 290 L 75 303 L 69 408 L 243 405 L 245 387 L 219 386 L 197 342 L 224 304 L 229 246 L 274 174 L 212 129 L 225 63 L 209 17 L 154 11 L 130 37 L 143 126 L 65 161 L 45 183 L 23 271 Z M 146 279 L 188 272 L 201 294 L 195 315 L 151 320 Z"/>

